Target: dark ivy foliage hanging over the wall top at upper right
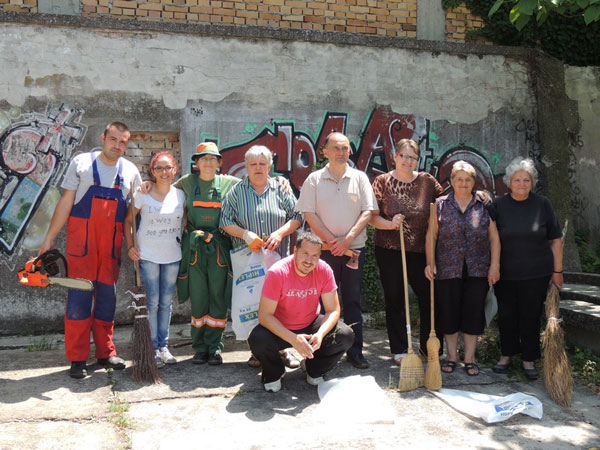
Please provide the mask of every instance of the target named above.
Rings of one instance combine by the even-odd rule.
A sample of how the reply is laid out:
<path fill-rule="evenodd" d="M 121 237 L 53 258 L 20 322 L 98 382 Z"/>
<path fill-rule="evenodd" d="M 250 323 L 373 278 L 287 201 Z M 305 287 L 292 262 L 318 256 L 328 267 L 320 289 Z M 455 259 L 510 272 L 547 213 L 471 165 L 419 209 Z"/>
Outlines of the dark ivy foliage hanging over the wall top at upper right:
<path fill-rule="evenodd" d="M 442 0 L 444 9 L 456 8 L 462 3 L 463 0 Z M 585 25 L 582 15 L 551 14 L 542 25 L 530 21 L 517 31 L 509 21 L 509 4 L 503 4 L 489 17 L 495 0 L 464 0 L 464 3 L 485 24 L 480 30 L 469 31 L 468 38 L 484 37 L 497 45 L 540 48 L 572 66 L 600 66 L 600 22 Z"/>

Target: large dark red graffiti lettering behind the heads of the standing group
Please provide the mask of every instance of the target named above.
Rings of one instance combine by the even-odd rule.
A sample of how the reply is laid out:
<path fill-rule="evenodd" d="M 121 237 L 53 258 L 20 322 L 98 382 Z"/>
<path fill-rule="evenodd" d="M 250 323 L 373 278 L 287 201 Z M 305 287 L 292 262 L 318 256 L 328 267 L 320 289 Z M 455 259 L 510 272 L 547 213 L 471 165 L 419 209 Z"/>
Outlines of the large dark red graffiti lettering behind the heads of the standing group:
<path fill-rule="evenodd" d="M 257 125 L 248 124 L 244 130 L 248 138 L 221 146 L 222 171 L 243 177 L 246 175 L 243 162 L 245 152 L 253 145 L 264 145 L 274 154 L 274 172 L 286 176 L 298 192 L 312 167 L 322 157 L 321 149 L 327 135 L 334 131 L 347 134 L 348 119 L 349 114 L 345 112 L 326 112 L 315 132 L 298 129 L 293 120 L 272 120 L 255 133 L 252 132 L 258 128 Z M 366 118 L 359 136 L 350 138 L 350 163 L 371 178 L 392 169 L 395 143 L 408 138 L 418 142 L 421 149 L 418 170 L 434 175 L 446 190 L 450 188 L 452 164 L 463 159 L 475 167 L 478 189 L 486 189 L 496 195 L 506 191 L 501 174 L 494 174 L 488 158 L 476 147 L 457 142 L 446 146 L 443 153 L 438 154 L 435 122 L 426 118 L 398 114 L 389 107 L 378 107 Z M 200 140 L 218 144 L 218 139 L 207 136 Z"/>

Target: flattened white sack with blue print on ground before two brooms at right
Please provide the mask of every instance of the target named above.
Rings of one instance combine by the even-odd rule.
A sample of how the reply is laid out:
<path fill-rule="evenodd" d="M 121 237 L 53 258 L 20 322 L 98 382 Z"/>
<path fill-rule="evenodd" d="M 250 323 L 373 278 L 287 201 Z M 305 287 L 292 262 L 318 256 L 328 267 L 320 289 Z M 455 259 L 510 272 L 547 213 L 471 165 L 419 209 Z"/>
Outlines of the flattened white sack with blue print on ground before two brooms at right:
<path fill-rule="evenodd" d="M 473 417 L 479 417 L 487 423 L 502 422 L 519 413 L 541 419 L 544 412 L 541 401 L 522 392 L 510 394 L 506 397 L 459 391 L 457 389 L 440 389 L 439 391 L 430 392 L 454 409 Z"/>

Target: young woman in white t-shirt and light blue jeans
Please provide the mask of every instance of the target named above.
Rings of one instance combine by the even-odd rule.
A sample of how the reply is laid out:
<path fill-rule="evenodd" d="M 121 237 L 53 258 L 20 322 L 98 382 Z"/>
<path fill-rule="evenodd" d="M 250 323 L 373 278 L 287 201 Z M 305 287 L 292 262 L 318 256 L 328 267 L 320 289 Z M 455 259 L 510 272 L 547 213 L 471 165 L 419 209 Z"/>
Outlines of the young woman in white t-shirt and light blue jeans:
<path fill-rule="evenodd" d="M 136 192 L 125 219 L 128 255 L 140 262 L 146 288 L 148 319 L 158 367 L 175 364 L 168 349 L 173 294 L 181 260 L 181 232 L 185 193 L 171 184 L 177 173 L 175 158 L 158 153 L 150 161 L 153 186 L 148 194 Z M 133 245 L 132 222 L 141 213 L 137 230 L 139 250 Z"/>

